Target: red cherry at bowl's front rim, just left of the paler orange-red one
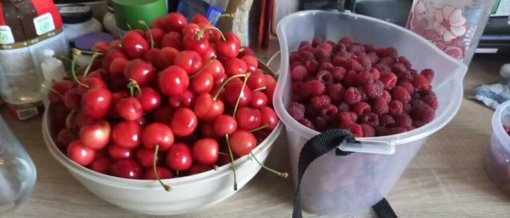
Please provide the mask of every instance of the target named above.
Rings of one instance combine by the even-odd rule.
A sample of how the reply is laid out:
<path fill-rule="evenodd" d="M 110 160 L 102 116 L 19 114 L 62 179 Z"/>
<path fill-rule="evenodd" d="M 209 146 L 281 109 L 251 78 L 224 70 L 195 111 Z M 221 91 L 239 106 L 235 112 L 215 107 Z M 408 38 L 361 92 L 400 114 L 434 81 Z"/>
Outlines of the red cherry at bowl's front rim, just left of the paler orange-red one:
<path fill-rule="evenodd" d="M 184 143 L 175 143 L 166 155 L 166 164 L 173 170 L 187 170 L 193 164 L 191 149 Z"/>

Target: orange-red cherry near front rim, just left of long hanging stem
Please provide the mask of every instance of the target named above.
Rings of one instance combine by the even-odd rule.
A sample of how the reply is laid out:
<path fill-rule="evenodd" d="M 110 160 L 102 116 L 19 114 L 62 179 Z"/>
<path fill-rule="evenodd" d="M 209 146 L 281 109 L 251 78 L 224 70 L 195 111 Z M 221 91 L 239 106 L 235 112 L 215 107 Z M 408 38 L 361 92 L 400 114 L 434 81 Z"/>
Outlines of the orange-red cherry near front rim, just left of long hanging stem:
<path fill-rule="evenodd" d="M 200 164 L 212 165 L 218 161 L 219 144 L 215 139 L 202 138 L 193 144 L 193 159 Z"/>

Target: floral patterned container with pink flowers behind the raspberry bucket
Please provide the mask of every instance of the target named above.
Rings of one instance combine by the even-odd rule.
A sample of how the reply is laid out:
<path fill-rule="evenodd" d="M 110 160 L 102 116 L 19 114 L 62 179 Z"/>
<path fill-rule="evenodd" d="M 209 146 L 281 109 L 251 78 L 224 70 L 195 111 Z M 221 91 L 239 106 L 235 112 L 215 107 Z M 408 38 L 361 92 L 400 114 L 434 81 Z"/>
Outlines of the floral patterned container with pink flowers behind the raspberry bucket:
<path fill-rule="evenodd" d="M 495 0 L 414 0 L 406 27 L 469 65 Z"/>

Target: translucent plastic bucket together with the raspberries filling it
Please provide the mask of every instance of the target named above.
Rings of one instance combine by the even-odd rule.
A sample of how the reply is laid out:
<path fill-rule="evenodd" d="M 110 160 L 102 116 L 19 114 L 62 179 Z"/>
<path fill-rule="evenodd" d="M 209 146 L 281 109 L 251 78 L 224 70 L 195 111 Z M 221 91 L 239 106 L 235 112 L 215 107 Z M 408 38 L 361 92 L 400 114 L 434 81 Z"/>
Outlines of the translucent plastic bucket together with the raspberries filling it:
<path fill-rule="evenodd" d="M 285 123 L 294 184 L 299 153 L 313 136 L 342 128 L 361 142 L 339 144 L 355 153 L 327 153 L 305 171 L 301 199 L 309 212 L 341 214 L 379 202 L 461 105 L 467 67 L 407 29 L 303 11 L 282 19 L 277 34 L 282 61 L 273 104 Z"/>

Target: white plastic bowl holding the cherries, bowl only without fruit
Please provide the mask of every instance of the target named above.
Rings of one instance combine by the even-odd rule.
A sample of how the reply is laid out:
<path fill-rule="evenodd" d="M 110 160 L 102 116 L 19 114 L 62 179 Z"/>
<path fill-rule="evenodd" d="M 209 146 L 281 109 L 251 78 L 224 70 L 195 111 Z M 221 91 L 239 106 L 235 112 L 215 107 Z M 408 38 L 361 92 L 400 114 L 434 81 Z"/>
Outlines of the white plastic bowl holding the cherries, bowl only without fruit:
<path fill-rule="evenodd" d="M 230 164 L 221 166 L 218 171 L 210 170 L 191 176 L 163 179 L 164 183 L 172 187 L 171 192 L 166 192 L 156 180 L 119 178 L 80 166 L 67 158 L 53 141 L 48 111 L 44 113 L 42 131 L 49 152 L 85 188 L 105 201 L 135 212 L 170 215 L 196 211 L 217 204 L 236 193 L 233 189 L 234 176 Z M 283 124 L 278 123 L 276 129 L 253 149 L 253 154 L 262 163 L 266 161 L 282 128 Z M 239 158 L 234 164 L 239 189 L 261 169 L 251 156 Z"/>

